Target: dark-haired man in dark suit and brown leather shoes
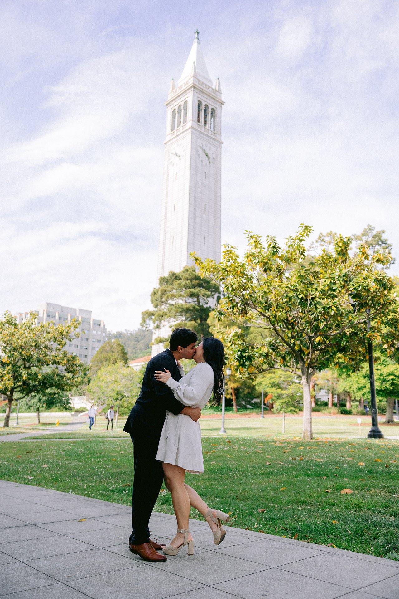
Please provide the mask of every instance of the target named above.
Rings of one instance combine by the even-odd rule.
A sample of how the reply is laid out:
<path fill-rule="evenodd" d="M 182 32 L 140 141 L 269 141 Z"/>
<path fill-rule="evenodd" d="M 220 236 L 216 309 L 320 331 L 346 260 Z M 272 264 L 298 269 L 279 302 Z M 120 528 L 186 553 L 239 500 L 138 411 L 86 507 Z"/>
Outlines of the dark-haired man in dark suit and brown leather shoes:
<path fill-rule="evenodd" d="M 135 477 L 132 496 L 132 534 L 129 538 L 130 551 L 147 561 L 165 561 L 165 555 L 157 550 L 161 545 L 150 539 L 148 522 L 156 504 L 163 482 L 162 463 L 156 455 L 166 410 L 173 414 L 185 414 L 197 421 L 199 408 L 185 407 L 176 400 L 167 385 L 154 378 L 156 370 L 167 369 L 173 379 L 180 380 L 177 365 L 179 359 L 193 359 L 198 337 L 189 329 L 175 329 L 169 340 L 169 349 L 151 358 L 145 368 L 139 397 L 130 411 L 123 430 L 133 441 Z"/>

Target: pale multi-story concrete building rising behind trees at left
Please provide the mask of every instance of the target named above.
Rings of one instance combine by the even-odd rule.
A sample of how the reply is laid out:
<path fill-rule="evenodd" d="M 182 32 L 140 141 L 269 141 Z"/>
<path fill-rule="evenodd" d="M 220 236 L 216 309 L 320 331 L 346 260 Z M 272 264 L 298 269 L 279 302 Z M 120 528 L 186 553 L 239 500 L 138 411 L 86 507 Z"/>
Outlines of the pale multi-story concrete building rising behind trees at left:
<path fill-rule="evenodd" d="M 75 353 L 85 364 L 90 364 L 90 360 L 106 341 L 104 321 L 93 319 L 91 310 L 68 308 L 60 304 L 44 302 L 34 311 L 38 315 L 39 322 L 53 322 L 54 325 L 65 325 L 65 323 L 71 322 L 74 318 L 78 320 L 78 337 L 71 339 L 65 349 L 69 353 Z M 23 322 L 28 316 L 29 312 L 19 312 L 16 314 L 18 322 Z"/>

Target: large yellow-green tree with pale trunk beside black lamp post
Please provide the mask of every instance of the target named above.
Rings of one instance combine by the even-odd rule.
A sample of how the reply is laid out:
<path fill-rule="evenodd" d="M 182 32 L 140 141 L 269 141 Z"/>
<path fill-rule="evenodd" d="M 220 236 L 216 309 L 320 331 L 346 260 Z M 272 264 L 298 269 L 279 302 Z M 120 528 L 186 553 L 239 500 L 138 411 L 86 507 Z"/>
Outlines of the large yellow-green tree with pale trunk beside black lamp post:
<path fill-rule="evenodd" d="M 306 439 L 312 438 L 310 382 L 316 370 L 341 363 L 355 370 L 366 359 L 367 339 L 392 352 L 399 338 L 398 298 L 385 270 L 389 252 L 371 251 L 366 243 L 352 247 L 351 237 L 336 235 L 331 247 L 309 255 L 311 232 L 301 225 L 285 247 L 248 232 L 245 255 L 226 245 L 218 264 L 193 255 L 200 274 L 223 289 L 216 313 L 235 323 L 220 331 L 234 371 L 246 377 L 281 368 L 299 377 Z M 243 327 L 269 336 L 250 343 Z"/>

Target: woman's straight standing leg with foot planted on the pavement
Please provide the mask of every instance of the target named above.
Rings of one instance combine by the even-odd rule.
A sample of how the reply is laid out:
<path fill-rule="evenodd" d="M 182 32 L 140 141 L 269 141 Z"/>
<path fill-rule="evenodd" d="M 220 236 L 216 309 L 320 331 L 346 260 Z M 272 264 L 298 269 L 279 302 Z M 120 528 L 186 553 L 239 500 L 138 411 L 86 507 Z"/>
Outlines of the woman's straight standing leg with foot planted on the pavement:
<path fill-rule="evenodd" d="M 185 470 L 174 464 L 162 464 L 165 474 L 166 488 L 172 493 L 173 509 L 175 510 L 177 527 L 188 530 L 188 518 L 190 518 L 190 497 L 184 485 Z M 188 540 L 191 541 L 191 534 Z M 177 533 L 175 538 L 170 541 L 172 547 L 178 547 L 184 541 L 184 534 Z"/>

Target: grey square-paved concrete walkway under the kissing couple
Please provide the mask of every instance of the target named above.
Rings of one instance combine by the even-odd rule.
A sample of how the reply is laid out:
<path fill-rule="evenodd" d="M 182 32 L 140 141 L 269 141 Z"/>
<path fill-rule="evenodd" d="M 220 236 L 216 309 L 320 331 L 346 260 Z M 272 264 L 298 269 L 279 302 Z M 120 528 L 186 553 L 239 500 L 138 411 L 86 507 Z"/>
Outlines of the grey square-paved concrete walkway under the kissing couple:
<path fill-rule="evenodd" d="M 0 595 L 13 599 L 397 599 L 399 562 L 228 528 L 216 547 L 191 521 L 182 549 L 150 564 L 129 552 L 130 508 L 0 481 Z M 173 516 L 154 513 L 154 537 Z"/>

